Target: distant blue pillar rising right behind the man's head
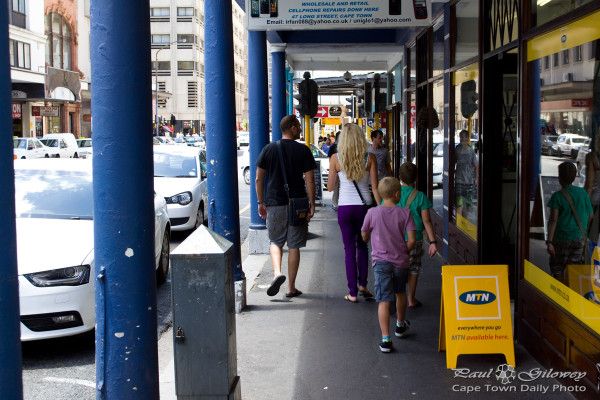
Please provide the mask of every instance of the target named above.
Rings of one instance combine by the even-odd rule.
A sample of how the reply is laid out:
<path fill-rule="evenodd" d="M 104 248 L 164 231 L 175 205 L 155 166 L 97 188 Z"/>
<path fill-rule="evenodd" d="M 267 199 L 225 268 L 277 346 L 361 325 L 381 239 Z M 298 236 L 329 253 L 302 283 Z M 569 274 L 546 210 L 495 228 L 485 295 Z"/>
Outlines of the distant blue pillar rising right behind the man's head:
<path fill-rule="evenodd" d="M 271 45 L 271 137 L 281 139 L 281 119 L 287 115 L 285 109 L 285 46 Z"/>

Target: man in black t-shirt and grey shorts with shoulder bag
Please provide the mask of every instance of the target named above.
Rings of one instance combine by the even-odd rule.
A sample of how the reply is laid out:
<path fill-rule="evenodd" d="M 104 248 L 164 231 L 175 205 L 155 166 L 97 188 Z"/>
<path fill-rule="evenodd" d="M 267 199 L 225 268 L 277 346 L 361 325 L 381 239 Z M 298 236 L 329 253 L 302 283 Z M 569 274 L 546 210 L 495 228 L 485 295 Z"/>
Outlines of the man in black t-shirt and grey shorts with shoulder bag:
<path fill-rule="evenodd" d="M 307 220 L 315 214 L 315 159 L 310 149 L 296 140 L 300 137 L 302 128 L 295 115 L 286 115 L 281 119 L 281 150 L 285 163 L 286 178 L 289 186 L 289 198 L 306 197 L 310 200 L 310 211 Z M 275 296 L 279 287 L 285 282 L 281 273 L 281 258 L 283 245 L 287 241 L 288 254 L 288 290 L 286 297 L 302 294 L 296 289 L 296 275 L 300 265 L 300 248 L 306 246 L 308 221 L 300 226 L 288 224 L 289 198 L 284 189 L 283 174 L 279 161 L 277 142 L 266 145 L 256 161 L 256 197 L 258 199 L 258 214 L 267 220 L 267 232 L 271 242 L 271 261 L 275 278 L 267 290 L 269 296 Z M 268 173 L 267 190 L 265 194 L 264 181 Z M 304 178 L 302 177 L 304 174 Z M 304 184 L 306 183 L 306 190 Z M 266 196 L 266 197 L 265 197 Z"/>

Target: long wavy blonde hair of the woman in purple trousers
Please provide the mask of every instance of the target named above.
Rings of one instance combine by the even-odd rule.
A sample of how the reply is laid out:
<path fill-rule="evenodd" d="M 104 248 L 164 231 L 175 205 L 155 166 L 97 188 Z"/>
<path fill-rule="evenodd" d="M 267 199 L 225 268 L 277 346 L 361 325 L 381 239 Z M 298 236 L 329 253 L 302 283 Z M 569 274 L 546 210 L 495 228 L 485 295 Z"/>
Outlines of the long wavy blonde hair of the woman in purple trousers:
<path fill-rule="evenodd" d="M 349 180 L 358 181 L 366 173 L 367 139 L 363 130 L 356 124 L 344 125 L 340 136 L 338 153 L 341 160 L 341 170 Z"/>

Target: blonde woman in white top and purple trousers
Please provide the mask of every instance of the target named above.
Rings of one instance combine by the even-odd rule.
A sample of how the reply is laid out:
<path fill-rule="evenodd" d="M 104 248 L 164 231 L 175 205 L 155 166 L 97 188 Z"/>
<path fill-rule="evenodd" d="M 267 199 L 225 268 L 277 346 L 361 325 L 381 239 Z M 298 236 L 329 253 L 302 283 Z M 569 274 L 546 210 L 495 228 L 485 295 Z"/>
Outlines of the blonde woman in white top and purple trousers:
<path fill-rule="evenodd" d="M 346 278 L 349 292 L 344 299 L 356 303 L 359 292 L 365 299 L 373 297 L 367 289 L 368 248 L 360 232 L 367 213 L 363 200 L 369 206 L 374 205 L 369 183 L 372 185 L 377 204 L 381 203 L 377 190 L 379 181 L 377 159 L 373 154 L 369 154 L 365 133 L 356 124 L 346 124 L 342 130 L 338 153 L 331 157 L 329 164 L 327 190 L 333 191 L 338 179 L 340 182 L 338 224 L 342 231 L 346 252 Z"/>

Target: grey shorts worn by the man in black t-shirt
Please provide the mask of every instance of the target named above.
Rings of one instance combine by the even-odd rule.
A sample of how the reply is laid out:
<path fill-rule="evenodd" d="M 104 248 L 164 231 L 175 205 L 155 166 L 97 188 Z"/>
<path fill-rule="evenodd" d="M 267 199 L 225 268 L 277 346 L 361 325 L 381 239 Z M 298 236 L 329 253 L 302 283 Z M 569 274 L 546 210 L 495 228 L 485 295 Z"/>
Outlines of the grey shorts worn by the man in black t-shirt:
<path fill-rule="evenodd" d="M 271 244 L 283 247 L 287 241 L 288 249 L 306 247 L 308 223 L 300 226 L 288 225 L 289 206 L 267 206 L 267 233 Z"/>

